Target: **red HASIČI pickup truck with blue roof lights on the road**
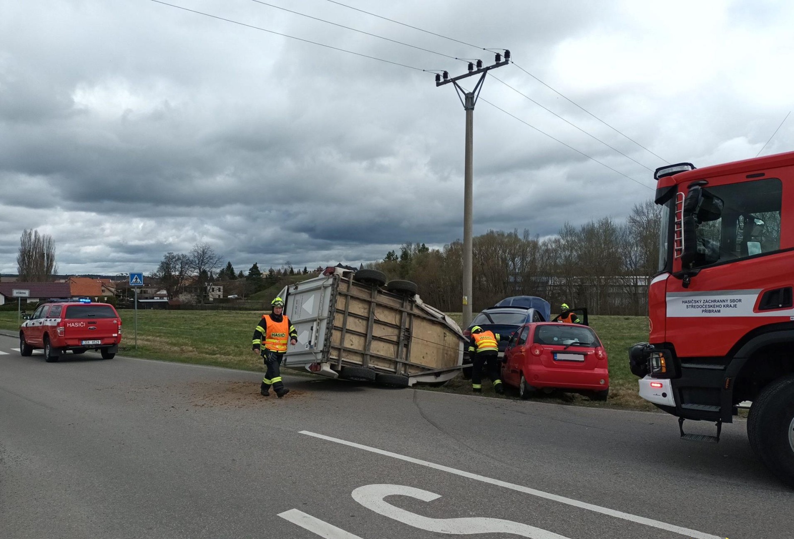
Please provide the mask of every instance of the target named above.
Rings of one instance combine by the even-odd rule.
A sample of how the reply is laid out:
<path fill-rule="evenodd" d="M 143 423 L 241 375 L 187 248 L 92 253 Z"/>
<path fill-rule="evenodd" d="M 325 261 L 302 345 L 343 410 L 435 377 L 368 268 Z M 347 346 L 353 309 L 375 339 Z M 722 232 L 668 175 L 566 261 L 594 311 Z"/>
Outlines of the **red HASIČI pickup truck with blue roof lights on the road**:
<path fill-rule="evenodd" d="M 53 363 L 71 351 L 98 350 L 102 359 L 113 359 L 121 343 L 121 316 L 113 305 L 91 301 L 48 301 L 41 304 L 19 328 L 19 353 L 44 349 L 44 360 Z"/>

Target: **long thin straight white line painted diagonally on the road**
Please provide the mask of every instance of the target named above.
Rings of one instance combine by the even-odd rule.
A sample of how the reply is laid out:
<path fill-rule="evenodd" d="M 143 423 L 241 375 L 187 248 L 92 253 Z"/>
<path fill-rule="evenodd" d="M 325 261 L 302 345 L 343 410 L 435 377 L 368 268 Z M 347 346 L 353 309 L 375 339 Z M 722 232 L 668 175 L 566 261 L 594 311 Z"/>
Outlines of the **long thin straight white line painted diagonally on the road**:
<path fill-rule="evenodd" d="M 404 456 L 404 455 L 400 455 L 399 453 L 384 451 L 383 449 L 371 448 L 368 445 L 356 444 L 355 442 L 349 442 L 347 440 L 341 440 L 339 438 L 325 436 L 322 434 L 318 434 L 316 432 L 302 430 L 299 431 L 299 433 L 306 434 L 306 436 L 314 436 L 315 438 L 319 438 L 321 440 L 328 440 L 336 444 L 347 445 L 351 448 L 363 449 L 364 451 L 377 453 L 379 455 L 391 456 L 394 459 L 405 460 L 406 462 L 419 464 L 420 466 L 426 466 L 426 467 L 434 468 L 436 470 L 446 471 L 450 474 L 461 475 L 462 477 L 468 477 L 468 479 L 474 479 L 476 481 L 481 481 L 483 483 L 490 483 L 491 485 L 508 488 L 511 489 L 512 491 L 523 492 L 525 494 L 532 494 L 533 496 L 538 496 L 539 498 L 545 498 L 545 499 L 553 500 L 554 502 L 565 503 L 566 505 L 579 507 L 580 509 L 586 509 L 589 511 L 593 511 L 594 513 L 606 514 L 610 517 L 615 517 L 615 518 L 622 518 L 622 520 L 626 520 L 629 522 L 637 522 L 638 524 L 651 526 L 657 529 L 665 529 L 669 532 L 679 533 L 680 535 L 692 537 L 692 539 L 723 539 L 724 537 L 718 535 L 711 535 L 711 533 L 699 532 L 696 529 L 688 529 L 688 528 L 684 528 L 683 526 L 668 524 L 667 522 L 653 520 L 653 518 L 645 518 L 630 513 L 623 513 L 622 511 L 609 509 L 608 507 L 596 506 L 588 502 L 580 502 L 579 500 L 575 500 L 572 498 L 565 498 L 565 496 L 559 496 L 557 494 L 551 494 L 549 492 L 538 491 L 534 488 L 523 487 L 522 485 L 516 485 L 514 483 L 507 483 L 506 481 L 500 481 L 499 479 L 491 479 L 490 477 L 485 477 L 484 475 L 472 474 L 468 471 L 457 470 L 456 468 L 432 463 L 427 460 L 414 459 L 413 457 L 410 456 Z"/>

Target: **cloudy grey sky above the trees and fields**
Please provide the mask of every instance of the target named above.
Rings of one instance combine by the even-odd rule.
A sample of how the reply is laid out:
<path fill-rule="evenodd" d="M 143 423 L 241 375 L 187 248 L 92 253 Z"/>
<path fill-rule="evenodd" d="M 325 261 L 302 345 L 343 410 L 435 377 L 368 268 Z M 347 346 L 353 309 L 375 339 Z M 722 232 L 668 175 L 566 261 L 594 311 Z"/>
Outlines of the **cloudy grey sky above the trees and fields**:
<path fill-rule="evenodd" d="M 71 274 L 461 239 L 464 110 L 434 74 L 483 48 L 515 63 L 474 112 L 475 235 L 622 220 L 657 166 L 794 149 L 788 0 L 168 3 L 0 1 L 0 273 L 25 228 Z"/>

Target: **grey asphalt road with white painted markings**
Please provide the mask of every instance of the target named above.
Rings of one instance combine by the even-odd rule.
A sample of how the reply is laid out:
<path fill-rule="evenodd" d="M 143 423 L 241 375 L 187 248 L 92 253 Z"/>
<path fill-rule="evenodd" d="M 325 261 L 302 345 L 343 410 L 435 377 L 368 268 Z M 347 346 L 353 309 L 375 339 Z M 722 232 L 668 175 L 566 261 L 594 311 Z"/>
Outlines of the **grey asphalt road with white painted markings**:
<path fill-rule="evenodd" d="M 743 421 L 693 443 L 662 413 L 290 377 L 265 398 L 254 372 L 18 346 L 4 539 L 794 537 Z"/>

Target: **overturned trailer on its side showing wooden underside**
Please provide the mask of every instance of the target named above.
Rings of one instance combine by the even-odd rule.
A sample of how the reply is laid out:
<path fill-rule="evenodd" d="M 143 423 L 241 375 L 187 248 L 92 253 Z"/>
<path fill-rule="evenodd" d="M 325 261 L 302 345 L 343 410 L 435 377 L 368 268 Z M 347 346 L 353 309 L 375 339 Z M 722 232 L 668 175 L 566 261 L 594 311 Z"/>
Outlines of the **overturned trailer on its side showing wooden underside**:
<path fill-rule="evenodd" d="M 463 363 L 454 320 L 425 304 L 410 281 L 338 267 L 279 294 L 298 331 L 284 366 L 384 386 L 442 385 Z"/>

